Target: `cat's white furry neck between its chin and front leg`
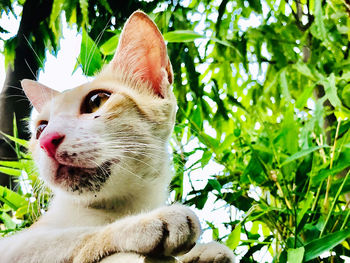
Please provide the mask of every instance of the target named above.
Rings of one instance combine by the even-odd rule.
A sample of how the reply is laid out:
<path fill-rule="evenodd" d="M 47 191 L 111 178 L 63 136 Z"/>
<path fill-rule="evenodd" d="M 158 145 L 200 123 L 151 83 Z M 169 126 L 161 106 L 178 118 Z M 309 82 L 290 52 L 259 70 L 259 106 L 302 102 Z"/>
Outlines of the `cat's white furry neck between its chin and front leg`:
<path fill-rule="evenodd" d="M 165 204 L 167 196 L 165 187 L 160 188 L 159 184 L 149 184 L 138 190 L 141 192 L 135 191 L 134 194 L 131 193 L 123 198 L 89 203 L 58 194 L 53 198 L 49 211 L 39 222 L 46 227 L 54 228 L 99 226 L 126 215 L 149 211 Z"/>

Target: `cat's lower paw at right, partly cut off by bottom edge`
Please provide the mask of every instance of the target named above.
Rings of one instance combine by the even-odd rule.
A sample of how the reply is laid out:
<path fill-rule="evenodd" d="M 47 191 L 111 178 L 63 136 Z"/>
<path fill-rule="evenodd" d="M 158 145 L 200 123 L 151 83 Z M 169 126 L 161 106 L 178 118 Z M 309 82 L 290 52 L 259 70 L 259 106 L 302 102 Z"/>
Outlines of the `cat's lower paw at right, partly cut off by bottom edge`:
<path fill-rule="evenodd" d="M 232 251 L 219 243 L 197 244 L 190 252 L 179 257 L 183 263 L 234 263 Z"/>

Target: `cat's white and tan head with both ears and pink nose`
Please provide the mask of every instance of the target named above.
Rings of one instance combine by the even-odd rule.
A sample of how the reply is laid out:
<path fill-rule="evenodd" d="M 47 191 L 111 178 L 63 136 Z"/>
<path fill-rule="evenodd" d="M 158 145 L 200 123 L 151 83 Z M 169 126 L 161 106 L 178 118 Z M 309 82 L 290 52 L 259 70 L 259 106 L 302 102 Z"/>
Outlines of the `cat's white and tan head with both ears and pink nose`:
<path fill-rule="evenodd" d="M 59 93 L 23 80 L 39 112 L 30 150 L 44 180 L 58 192 L 100 198 L 157 181 L 175 120 L 172 79 L 163 37 L 137 11 L 92 82 Z"/>

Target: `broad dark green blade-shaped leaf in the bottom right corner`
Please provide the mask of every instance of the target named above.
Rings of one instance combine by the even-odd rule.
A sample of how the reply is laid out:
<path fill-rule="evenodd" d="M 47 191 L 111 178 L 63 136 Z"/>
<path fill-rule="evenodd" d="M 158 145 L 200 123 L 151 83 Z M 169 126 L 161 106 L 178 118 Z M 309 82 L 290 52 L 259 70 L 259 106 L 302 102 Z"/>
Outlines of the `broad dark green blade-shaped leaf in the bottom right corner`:
<path fill-rule="evenodd" d="M 350 229 L 345 229 L 311 241 L 305 246 L 304 261 L 309 261 L 320 256 L 348 237 L 350 237 Z"/>

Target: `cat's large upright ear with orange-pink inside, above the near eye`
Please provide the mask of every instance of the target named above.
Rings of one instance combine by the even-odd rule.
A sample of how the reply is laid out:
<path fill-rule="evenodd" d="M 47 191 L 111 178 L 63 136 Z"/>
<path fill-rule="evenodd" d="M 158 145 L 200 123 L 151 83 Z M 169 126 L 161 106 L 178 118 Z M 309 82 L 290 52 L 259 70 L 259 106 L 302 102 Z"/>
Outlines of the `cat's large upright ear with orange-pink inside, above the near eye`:
<path fill-rule="evenodd" d="M 163 36 L 156 24 L 141 11 L 134 12 L 126 22 L 111 63 L 114 69 L 122 69 L 137 80 L 150 83 L 161 97 L 173 82 Z"/>

